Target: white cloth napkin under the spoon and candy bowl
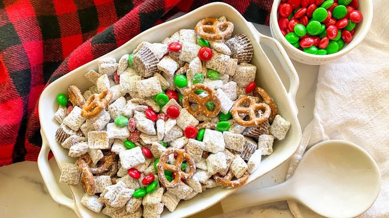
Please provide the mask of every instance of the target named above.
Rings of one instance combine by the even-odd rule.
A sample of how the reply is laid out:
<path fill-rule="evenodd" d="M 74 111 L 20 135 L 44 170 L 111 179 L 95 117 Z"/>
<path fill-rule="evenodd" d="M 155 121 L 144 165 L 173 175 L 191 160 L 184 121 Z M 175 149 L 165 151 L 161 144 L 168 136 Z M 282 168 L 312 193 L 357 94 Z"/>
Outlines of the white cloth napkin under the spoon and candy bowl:
<path fill-rule="evenodd" d="M 388 218 L 389 13 L 387 0 L 373 3 L 373 23 L 364 41 L 346 56 L 320 66 L 314 119 L 304 130 L 287 178 L 309 147 L 329 139 L 351 141 L 373 156 L 382 176 L 378 199 L 360 218 Z M 288 205 L 296 218 L 321 218 L 296 202 Z"/>

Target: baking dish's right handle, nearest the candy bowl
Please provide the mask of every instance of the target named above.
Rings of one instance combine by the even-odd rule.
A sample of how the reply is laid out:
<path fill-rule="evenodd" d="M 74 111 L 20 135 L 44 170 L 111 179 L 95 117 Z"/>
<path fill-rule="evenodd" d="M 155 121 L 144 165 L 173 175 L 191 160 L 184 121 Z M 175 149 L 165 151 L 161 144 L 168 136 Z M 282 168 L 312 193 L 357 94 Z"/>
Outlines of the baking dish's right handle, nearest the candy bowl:
<path fill-rule="evenodd" d="M 296 99 L 297 90 L 299 88 L 299 76 L 297 75 L 296 69 L 292 64 L 292 61 L 289 59 L 288 55 L 286 54 L 286 51 L 277 40 L 265 36 L 263 34 L 259 34 L 259 40 L 261 43 L 269 46 L 274 51 L 275 55 L 277 56 L 278 60 L 282 65 L 282 68 L 284 69 L 287 76 L 289 77 L 290 86 L 289 86 L 288 95 L 293 101 L 296 112 L 298 113 L 295 99 Z"/>

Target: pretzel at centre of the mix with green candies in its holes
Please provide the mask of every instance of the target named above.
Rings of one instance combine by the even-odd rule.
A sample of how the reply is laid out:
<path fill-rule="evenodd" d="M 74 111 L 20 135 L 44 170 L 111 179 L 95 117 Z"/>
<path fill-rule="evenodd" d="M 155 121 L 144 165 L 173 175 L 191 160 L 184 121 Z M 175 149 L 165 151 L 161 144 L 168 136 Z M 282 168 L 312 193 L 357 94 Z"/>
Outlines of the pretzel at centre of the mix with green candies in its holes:
<path fill-rule="evenodd" d="M 208 95 L 201 98 L 194 93 L 197 90 L 203 90 L 207 92 Z M 191 108 L 191 105 L 189 104 L 190 101 L 197 104 L 197 108 L 195 110 Z M 208 102 L 213 102 L 213 104 L 215 105 L 213 111 L 206 109 L 206 104 Z M 220 100 L 217 98 L 217 93 L 209 86 L 206 86 L 201 83 L 194 84 L 193 86 L 191 86 L 191 88 L 185 91 L 184 98 L 183 98 L 183 106 L 185 107 L 185 109 L 188 110 L 189 113 L 191 113 L 194 116 L 197 116 L 201 112 L 206 117 L 217 116 L 221 108 Z"/>

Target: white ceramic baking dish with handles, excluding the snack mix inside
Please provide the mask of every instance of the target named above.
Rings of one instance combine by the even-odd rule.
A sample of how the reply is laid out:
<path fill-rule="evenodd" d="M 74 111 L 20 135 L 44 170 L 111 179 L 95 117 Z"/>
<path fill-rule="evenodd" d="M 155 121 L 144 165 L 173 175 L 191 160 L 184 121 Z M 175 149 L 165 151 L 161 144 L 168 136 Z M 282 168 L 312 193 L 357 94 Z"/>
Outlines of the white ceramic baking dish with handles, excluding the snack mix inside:
<path fill-rule="evenodd" d="M 247 22 L 233 7 L 217 2 L 204 5 L 186 15 L 146 30 L 103 57 L 114 57 L 119 60 L 122 55 L 132 53 L 136 46 L 142 41 L 161 42 L 163 39 L 180 29 L 193 29 L 198 20 L 204 17 L 220 17 L 222 15 L 226 15 L 227 19 L 233 22 L 233 35 L 242 32 L 251 40 L 254 47 L 254 56 L 251 63 L 258 68 L 255 81 L 260 87 L 269 92 L 274 98 L 279 113 L 291 123 L 291 127 L 285 139 L 282 141 L 275 141 L 273 154 L 263 157 L 260 167 L 250 175 L 246 183 L 248 184 L 288 160 L 297 150 L 301 140 L 301 128 L 297 119 L 298 111 L 295 104 L 299 79 L 296 70 L 279 42 L 257 32 L 254 26 Z M 289 91 L 283 86 L 277 72 L 266 57 L 260 44 L 269 46 L 277 55 L 284 70 L 288 74 L 290 80 Z M 93 60 L 54 81 L 40 96 L 39 118 L 42 134 L 42 149 L 38 157 L 38 166 L 47 189 L 54 201 L 69 207 L 80 218 L 103 218 L 105 217 L 103 214 L 96 214 L 80 204 L 81 197 L 85 193 L 80 185 L 69 185 L 73 199 L 66 197 L 59 189 L 57 185 L 58 178 L 54 178 L 47 162 L 49 150 L 53 152 L 60 169 L 63 163 L 74 163 L 76 161 L 76 158 L 68 157 L 68 149 L 62 148 L 54 138 L 55 131 L 59 126 L 54 119 L 54 112 L 58 108 L 56 96 L 59 93 L 67 93 L 69 85 L 76 85 L 81 91 L 86 90 L 92 84 L 85 79 L 84 74 L 91 69 L 97 71 L 97 60 Z M 241 187 L 225 189 L 216 187 L 207 189 L 190 201 L 181 201 L 174 213 L 170 213 L 165 209 L 162 217 L 179 218 L 193 215 L 211 207 L 240 188 Z"/>

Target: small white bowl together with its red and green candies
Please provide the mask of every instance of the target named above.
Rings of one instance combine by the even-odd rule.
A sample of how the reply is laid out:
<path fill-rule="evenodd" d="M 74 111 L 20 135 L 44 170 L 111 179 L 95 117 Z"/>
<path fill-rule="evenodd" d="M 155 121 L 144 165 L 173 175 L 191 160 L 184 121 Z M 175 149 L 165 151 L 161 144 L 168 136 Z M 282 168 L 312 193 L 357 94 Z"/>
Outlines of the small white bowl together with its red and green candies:
<path fill-rule="evenodd" d="M 372 0 L 274 0 L 270 30 L 290 58 L 320 65 L 355 48 L 372 18 Z"/>

